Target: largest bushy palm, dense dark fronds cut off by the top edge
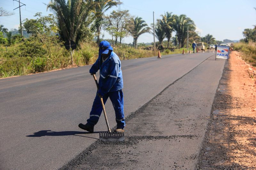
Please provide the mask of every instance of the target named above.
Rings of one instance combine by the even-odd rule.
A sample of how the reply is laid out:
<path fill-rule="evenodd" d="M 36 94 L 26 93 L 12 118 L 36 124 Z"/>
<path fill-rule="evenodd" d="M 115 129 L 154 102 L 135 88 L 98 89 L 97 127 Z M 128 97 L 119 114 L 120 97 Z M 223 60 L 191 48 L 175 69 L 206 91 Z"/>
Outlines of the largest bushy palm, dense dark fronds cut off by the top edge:
<path fill-rule="evenodd" d="M 82 26 L 92 23 L 93 0 L 51 0 L 47 10 L 53 11 L 57 17 L 60 36 L 64 41 L 73 40 L 78 44 Z"/>

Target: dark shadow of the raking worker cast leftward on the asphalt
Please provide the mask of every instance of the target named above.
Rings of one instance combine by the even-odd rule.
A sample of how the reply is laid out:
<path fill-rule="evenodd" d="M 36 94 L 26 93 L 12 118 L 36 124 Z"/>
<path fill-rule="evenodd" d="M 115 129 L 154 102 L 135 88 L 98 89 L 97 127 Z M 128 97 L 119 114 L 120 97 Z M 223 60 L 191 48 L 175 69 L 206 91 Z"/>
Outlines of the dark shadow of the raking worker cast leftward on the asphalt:
<path fill-rule="evenodd" d="M 81 136 L 79 134 L 89 134 L 90 132 L 81 132 L 81 131 L 61 131 L 61 132 L 55 132 L 52 130 L 40 130 L 38 132 L 35 132 L 33 135 L 28 135 L 26 137 L 43 137 L 43 136 L 69 136 L 69 135 L 74 135 L 74 136 L 79 136 L 79 137 L 86 137 L 86 136 Z M 99 132 L 93 132 L 93 133 L 99 133 Z M 97 139 L 94 137 L 88 137 L 88 138 L 93 138 Z"/>

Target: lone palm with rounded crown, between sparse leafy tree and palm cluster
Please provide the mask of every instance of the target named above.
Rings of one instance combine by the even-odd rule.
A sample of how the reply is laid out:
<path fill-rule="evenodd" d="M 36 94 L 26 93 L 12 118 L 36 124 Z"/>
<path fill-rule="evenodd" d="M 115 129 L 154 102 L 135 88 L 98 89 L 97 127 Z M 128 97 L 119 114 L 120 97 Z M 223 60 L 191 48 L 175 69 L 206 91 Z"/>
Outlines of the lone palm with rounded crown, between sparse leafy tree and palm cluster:
<path fill-rule="evenodd" d="M 127 29 L 133 37 L 133 47 L 136 49 L 138 48 L 137 41 L 139 36 L 143 33 L 148 33 L 150 30 L 148 24 L 141 17 L 132 18 Z"/>

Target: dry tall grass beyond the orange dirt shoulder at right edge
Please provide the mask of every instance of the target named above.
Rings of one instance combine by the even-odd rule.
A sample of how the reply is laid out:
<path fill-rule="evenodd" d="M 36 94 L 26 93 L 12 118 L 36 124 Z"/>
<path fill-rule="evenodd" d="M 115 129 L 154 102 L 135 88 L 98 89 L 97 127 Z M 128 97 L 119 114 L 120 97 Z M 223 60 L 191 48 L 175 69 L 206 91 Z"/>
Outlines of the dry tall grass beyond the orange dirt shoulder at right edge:
<path fill-rule="evenodd" d="M 241 51 L 244 54 L 241 55 L 244 61 L 250 63 L 252 66 L 256 66 L 256 43 L 249 41 L 249 43 L 239 42 L 234 43 L 232 48 L 236 51 Z"/>

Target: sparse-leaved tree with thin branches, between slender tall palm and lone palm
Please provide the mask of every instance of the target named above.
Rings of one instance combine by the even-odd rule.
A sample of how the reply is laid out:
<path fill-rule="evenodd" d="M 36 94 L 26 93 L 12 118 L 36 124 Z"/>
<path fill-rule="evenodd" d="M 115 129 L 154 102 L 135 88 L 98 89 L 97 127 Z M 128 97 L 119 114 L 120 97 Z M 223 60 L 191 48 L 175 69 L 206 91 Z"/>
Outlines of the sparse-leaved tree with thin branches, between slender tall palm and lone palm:
<path fill-rule="evenodd" d="M 122 39 L 127 36 L 127 25 L 130 20 L 130 14 L 128 10 L 124 11 L 112 11 L 109 16 L 106 17 L 105 27 L 108 33 L 117 39 L 119 38 L 120 44 Z"/>

